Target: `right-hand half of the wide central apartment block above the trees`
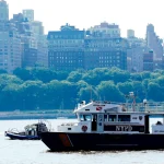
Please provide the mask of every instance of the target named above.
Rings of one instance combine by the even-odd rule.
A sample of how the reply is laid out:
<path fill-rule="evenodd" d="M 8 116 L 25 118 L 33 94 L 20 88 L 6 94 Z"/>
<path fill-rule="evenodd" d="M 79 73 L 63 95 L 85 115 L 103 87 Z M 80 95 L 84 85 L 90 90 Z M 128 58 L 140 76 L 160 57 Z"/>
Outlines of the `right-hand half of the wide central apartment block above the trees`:
<path fill-rule="evenodd" d="M 127 69 L 127 52 L 122 38 L 85 38 L 84 69 L 112 68 Z"/>

